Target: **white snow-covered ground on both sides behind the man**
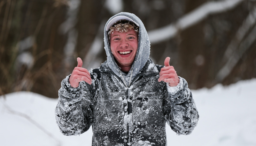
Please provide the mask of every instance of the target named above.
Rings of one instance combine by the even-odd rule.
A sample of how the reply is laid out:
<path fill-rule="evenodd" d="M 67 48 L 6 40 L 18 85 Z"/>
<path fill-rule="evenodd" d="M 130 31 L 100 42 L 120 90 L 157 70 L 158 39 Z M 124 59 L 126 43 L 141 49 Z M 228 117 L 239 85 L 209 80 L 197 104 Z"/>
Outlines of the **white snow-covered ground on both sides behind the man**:
<path fill-rule="evenodd" d="M 192 94 L 200 116 L 198 126 L 192 134 L 178 136 L 167 125 L 168 146 L 256 146 L 256 79 L 192 90 Z M 56 104 L 57 99 L 31 92 L 0 96 L 0 145 L 91 145 L 92 129 L 80 136 L 59 132 Z"/>

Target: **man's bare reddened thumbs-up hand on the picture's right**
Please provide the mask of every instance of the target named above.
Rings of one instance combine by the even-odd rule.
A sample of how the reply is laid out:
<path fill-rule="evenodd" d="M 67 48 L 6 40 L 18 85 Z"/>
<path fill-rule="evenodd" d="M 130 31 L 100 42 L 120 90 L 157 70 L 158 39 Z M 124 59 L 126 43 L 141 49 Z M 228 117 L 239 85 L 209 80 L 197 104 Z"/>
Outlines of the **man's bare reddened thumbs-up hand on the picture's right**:
<path fill-rule="evenodd" d="M 164 63 L 165 67 L 161 68 L 161 71 L 159 73 L 160 77 L 158 81 L 159 82 L 164 81 L 166 83 L 169 83 L 169 86 L 175 87 L 180 82 L 180 79 L 176 71 L 174 70 L 174 67 L 169 65 L 169 62 L 170 62 L 170 57 L 167 57 Z"/>

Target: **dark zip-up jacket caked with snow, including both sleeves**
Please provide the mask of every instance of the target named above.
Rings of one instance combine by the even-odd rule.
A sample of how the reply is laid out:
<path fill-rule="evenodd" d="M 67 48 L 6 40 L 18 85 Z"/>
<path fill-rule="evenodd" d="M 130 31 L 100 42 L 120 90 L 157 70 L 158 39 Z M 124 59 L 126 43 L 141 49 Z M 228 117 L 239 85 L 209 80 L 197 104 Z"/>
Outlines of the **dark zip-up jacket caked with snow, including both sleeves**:
<path fill-rule="evenodd" d="M 129 86 L 103 63 L 91 70 L 91 85 L 73 88 L 67 76 L 61 83 L 55 115 L 64 135 L 79 135 L 92 125 L 93 146 L 166 145 L 166 122 L 187 135 L 198 122 L 188 84 L 176 87 L 158 82 L 159 70 L 150 59 Z"/>

